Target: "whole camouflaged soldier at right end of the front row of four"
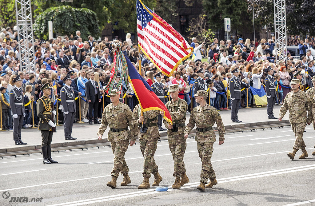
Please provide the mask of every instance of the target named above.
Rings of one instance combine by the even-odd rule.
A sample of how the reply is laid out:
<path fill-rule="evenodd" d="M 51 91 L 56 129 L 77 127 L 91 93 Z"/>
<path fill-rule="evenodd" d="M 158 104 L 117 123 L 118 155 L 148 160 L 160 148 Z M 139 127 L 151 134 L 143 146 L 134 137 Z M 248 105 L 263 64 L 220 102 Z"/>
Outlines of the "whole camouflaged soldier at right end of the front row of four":
<path fill-rule="evenodd" d="M 220 113 L 212 106 L 208 105 L 206 100 L 208 97 L 207 91 L 198 91 L 194 94 L 196 102 L 200 105 L 195 107 L 190 115 L 189 123 L 185 129 L 185 138 L 192 131 L 195 124 L 197 126 L 197 132 L 195 140 L 197 141 L 197 150 L 199 157 L 201 158 L 201 174 L 200 185 L 198 190 L 205 191 L 205 188 L 212 188 L 212 186 L 218 184 L 215 179 L 215 171 L 212 168 L 210 159 L 213 152 L 213 143 L 215 142 L 215 133 L 212 129 L 216 123 L 219 131 L 219 145 L 224 143 L 225 129 L 221 119 Z M 210 179 L 209 184 L 208 178 Z"/>

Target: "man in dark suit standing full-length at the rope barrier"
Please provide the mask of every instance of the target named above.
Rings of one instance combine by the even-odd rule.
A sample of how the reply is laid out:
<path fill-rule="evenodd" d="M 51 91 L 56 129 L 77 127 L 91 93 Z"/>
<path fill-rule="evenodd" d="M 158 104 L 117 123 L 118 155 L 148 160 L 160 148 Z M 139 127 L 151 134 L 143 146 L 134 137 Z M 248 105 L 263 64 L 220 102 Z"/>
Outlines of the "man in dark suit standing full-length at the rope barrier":
<path fill-rule="evenodd" d="M 98 104 L 101 101 L 100 98 L 100 88 L 98 83 L 94 81 L 94 72 L 90 72 L 90 80 L 85 84 L 85 94 L 86 98 L 89 103 L 89 110 L 88 110 L 88 119 L 89 124 L 93 124 L 92 122 L 92 112 L 94 110 L 94 123 L 100 124 L 100 121 L 97 120 L 98 118 Z"/>

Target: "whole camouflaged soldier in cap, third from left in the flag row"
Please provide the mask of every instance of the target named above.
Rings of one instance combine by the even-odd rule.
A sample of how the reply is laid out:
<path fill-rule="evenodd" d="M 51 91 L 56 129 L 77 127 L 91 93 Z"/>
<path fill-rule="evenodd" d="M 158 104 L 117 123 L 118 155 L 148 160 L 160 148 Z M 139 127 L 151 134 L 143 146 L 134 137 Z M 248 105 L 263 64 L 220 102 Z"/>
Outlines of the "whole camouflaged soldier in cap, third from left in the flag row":
<path fill-rule="evenodd" d="M 184 184 L 189 182 L 184 164 L 186 151 L 184 131 L 188 105 L 185 100 L 178 98 L 178 94 L 178 84 L 169 85 L 169 96 L 172 100 L 166 103 L 166 107 L 172 117 L 173 124 L 169 124 L 165 119 L 164 124 L 168 127 L 167 139 L 169 141 L 169 150 L 174 160 L 173 176 L 175 177 L 175 182 L 172 186 L 173 189 L 179 189 L 180 186 L 184 186 Z M 163 112 L 160 112 L 160 114 L 164 115 Z"/>

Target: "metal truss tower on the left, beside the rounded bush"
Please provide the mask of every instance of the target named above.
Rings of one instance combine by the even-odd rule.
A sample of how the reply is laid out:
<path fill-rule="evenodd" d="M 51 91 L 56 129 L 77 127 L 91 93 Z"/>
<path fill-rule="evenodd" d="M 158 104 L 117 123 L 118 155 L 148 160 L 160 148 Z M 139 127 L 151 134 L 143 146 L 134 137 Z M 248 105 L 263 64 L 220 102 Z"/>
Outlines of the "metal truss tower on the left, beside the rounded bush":
<path fill-rule="evenodd" d="M 35 52 L 31 0 L 15 0 L 16 24 L 20 54 L 20 70 L 35 70 Z"/>

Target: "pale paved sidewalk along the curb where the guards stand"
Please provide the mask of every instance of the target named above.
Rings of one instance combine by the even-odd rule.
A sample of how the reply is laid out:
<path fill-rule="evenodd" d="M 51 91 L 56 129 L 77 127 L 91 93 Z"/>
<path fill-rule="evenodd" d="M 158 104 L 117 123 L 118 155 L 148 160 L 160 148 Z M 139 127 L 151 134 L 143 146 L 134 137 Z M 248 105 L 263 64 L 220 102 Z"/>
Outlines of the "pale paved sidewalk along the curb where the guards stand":
<path fill-rule="evenodd" d="M 273 109 L 274 116 L 278 117 L 280 106 L 275 106 Z M 267 108 L 248 108 L 239 109 L 238 119 L 243 121 L 242 123 L 233 123 L 231 120 L 231 111 L 220 111 L 223 123 L 226 129 L 232 128 L 242 128 L 262 124 L 272 124 L 279 123 L 277 119 L 268 119 Z M 186 115 L 186 124 L 189 122 L 190 114 Z M 289 112 L 286 113 L 283 120 L 288 121 Z M 284 121 L 283 121 L 284 122 Z M 215 125 L 216 126 L 216 125 Z M 65 140 L 63 125 L 57 127 L 57 132 L 53 135 L 52 147 L 62 147 L 62 146 L 74 146 L 74 145 L 84 145 L 84 144 L 95 144 L 100 143 L 97 139 L 98 124 L 89 125 L 88 123 L 83 124 L 73 124 L 72 136 L 77 138 L 77 140 Z M 163 125 L 164 127 L 164 125 Z M 107 134 L 109 128 L 105 130 L 103 135 L 103 140 L 101 142 L 107 142 Z M 166 131 L 160 132 L 161 136 L 166 136 Z M 17 146 L 13 141 L 12 131 L 0 131 L 0 153 L 5 152 L 16 152 L 25 150 L 41 149 L 41 132 L 37 129 L 22 129 L 22 141 L 26 142 L 27 145 Z"/>

